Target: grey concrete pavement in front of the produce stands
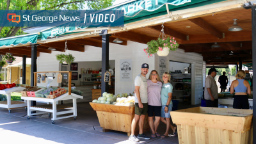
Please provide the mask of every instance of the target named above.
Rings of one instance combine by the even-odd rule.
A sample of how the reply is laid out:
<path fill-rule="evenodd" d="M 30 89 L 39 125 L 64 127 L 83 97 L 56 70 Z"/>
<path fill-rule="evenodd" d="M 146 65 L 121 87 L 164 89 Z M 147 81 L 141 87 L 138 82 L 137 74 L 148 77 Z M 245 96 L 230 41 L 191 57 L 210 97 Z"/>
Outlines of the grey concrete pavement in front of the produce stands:
<path fill-rule="evenodd" d="M 38 103 L 40 104 L 40 103 Z M 65 104 L 68 105 L 68 104 Z M 194 106 L 179 106 L 179 109 Z M 97 114 L 88 102 L 77 103 L 77 118 L 56 120 L 51 124 L 47 114 L 27 119 L 25 108 L 0 108 L 0 143 L 132 143 L 127 133 L 118 131 L 102 132 Z M 159 134 L 164 134 L 166 125 L 160 122 Z M 170 130 L 169 134 L 171 134 Z M 145 133 L 150 136 L 151 132 Z M 140 143 L 179 143 L 178 137 L 141 140 Z"/>

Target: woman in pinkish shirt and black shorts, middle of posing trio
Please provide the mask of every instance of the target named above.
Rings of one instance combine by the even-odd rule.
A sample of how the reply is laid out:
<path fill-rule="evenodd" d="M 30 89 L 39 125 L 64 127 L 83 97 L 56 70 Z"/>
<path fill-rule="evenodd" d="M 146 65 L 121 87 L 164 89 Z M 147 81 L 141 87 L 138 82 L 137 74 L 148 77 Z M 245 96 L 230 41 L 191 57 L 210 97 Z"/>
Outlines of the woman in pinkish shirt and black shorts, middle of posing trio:
<path fill-rule="evenodd" d="M 162 82 L 156 70 L 152 70 L 147 79 L 148 84 L 148 124 L 152 131 L 151 138 L 160 137 L 157 127 L 161 117 L 161 89 Z M 155 122 L 154 122 L 155 115 Z"/>

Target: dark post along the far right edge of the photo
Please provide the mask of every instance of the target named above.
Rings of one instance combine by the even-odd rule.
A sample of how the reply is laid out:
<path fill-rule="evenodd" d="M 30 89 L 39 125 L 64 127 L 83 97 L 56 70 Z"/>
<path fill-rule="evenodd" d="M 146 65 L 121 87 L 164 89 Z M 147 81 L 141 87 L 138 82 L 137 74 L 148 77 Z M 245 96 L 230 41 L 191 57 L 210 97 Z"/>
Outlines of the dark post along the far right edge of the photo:
<path fill-rule="evenodd" d="M 256 5 L 252 5 L 252 67 L 256 68 Z M 253 90 L 256 92 L 256 76 L 253 77 Z M 253 99 L 253 109 L 256 109 L 256 99 Z M 253 111 L 253 144 L 256 144 L 256 110 Z"/>

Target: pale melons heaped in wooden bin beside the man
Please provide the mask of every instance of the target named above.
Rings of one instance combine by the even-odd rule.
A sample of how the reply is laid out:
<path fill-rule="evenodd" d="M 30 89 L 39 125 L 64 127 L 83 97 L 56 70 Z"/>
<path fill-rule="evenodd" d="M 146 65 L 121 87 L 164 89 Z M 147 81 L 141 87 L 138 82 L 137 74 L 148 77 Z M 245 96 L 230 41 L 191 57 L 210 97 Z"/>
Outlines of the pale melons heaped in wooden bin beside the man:
<path fill-rule="evenodd" d="M 95 99 L 92 102 L 98 104 L 113 104 L 115 106 L 134 106 L 135 97 L 130 93 L 121 93 L 118 95 L 113 95 L 112 93 L 102 93 L 102 97 Z"/>

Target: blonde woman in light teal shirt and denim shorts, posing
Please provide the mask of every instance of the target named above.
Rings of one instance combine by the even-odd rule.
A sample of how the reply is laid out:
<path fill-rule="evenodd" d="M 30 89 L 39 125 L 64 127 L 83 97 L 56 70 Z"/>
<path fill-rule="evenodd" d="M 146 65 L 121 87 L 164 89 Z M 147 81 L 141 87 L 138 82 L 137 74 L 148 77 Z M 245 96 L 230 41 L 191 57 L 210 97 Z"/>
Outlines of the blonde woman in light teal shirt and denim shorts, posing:
<path fill-rule="evenodd" d="M 177 136 L 176 129 L 177 127 L 173 127 L 173 125 L 170 123 L 170 111 L 172 111 L 172 89 L 173 86 L 170 83 L 171 81 L 171 75 L 168 74 L 168 72 L 164 72 L 163 74 L 163 86 L 161 90 L 161 121 L 166 124 L 166 132 L 161 136 L 161 138 L 166 138 L 169 133 L 169 129 L 171 128 L 173 131 L 173 134 L 171 136 Z M 165 118 L 165 119 L 164 119 Z"/>

